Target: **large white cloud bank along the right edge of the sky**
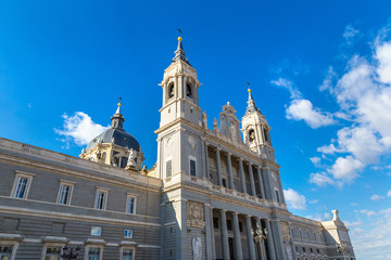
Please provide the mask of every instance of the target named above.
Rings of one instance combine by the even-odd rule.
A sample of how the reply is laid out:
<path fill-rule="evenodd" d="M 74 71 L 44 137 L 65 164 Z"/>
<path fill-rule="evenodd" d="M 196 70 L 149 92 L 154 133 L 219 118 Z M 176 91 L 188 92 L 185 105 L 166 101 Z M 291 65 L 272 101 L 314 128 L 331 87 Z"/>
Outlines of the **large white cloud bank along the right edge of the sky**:
<path fill-rule="evenodd" d="M 339 105 L 332 116 L 344 120 L 337 139 L 317 148 L 328 165 L 316 165 L 327 173 L 312 173 L 317 185 L 353 183 L 367 167 L 379 164 L 391 151 L 391 27 L 379 30 L 370 43 L 373 56 L 348 57 L 342 72 L 329 66 L 320 91 L 329 91 Z M 351 40 L 360 34 L 351 25 L 343 37 Z M 338 76 L 340 75 L 340 76 Z M 323 114 L 327 116 L 329 114 Z M 329 116 L 328 118 L 333 119 Z"/>

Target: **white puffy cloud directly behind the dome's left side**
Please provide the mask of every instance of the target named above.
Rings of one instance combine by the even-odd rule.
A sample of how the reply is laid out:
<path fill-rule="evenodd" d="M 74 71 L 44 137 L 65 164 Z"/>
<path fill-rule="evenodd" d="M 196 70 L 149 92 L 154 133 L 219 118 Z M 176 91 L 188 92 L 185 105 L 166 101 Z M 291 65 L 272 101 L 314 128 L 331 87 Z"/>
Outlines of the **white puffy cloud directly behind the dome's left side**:
<path fill-rule="evenodd" d="M 65 143 L 65 147 L 70 147 L 71 143 L 78 146 L 86 145 L 109 128 L 93 122 L 91 117 L 83 112 L 76 112 L 73 116 L 64 114 L 62 118 L 64 118 L 63 129 L 54 129 L 54 131 L 64 136 L 61 141 Z"/>

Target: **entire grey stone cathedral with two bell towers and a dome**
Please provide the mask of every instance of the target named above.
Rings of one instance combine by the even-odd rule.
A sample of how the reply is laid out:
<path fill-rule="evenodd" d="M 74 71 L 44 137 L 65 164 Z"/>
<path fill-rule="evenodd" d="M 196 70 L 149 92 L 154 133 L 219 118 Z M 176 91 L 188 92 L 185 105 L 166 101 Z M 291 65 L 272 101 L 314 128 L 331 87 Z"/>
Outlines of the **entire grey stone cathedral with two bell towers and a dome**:
<path fill-rule="evenodd" d="M 338 210 L 325 222 L 288 210 L 250 89 L 241 119 L 228 102 L 210 129 L 181 37 L 160 86 L 151 169 L 121 101 L 79 158 L 0 138 L 1 260 L 355 259 Z"/>

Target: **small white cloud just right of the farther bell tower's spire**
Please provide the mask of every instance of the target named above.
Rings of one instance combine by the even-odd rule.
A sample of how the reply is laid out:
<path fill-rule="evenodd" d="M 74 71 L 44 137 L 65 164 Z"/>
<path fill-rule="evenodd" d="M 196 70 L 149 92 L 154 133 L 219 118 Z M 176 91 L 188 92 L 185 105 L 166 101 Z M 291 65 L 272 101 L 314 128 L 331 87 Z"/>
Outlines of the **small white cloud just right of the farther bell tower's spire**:
<path fill-rule="evenodd" d="M 288 119 L 304 120 L 314 129 L 336 123 L 330 113 L 320 112 L 311 101 L 304 99 L 292 100 L 286 113 Z"/>

